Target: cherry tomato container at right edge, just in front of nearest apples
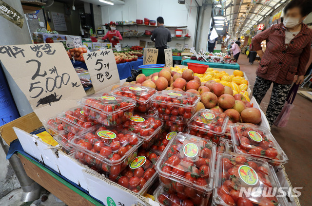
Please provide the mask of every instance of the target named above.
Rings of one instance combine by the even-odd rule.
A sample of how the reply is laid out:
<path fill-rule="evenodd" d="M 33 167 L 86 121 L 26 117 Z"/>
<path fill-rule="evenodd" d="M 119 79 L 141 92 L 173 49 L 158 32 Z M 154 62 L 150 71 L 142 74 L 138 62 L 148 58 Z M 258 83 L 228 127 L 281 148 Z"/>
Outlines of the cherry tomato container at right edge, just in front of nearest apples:
<path fill-rule="evenodd" d="M 261 126 L 235 123 L 231 129 L 234 151 L 264 159 L 276 168 L 288 158 L 272 133 Z"/>

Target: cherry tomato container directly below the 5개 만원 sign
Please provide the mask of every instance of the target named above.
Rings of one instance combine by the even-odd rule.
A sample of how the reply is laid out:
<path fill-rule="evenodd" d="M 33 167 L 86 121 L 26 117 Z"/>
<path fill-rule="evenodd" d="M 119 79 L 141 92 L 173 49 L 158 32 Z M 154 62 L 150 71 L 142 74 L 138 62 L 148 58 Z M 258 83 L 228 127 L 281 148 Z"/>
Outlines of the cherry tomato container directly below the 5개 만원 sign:
<path fill-rule="evenodd" d="M 106 126 L 116 126 L 129 119 L 136 103 L 132 98 L 108 93 L 85 96 L 78 102 L 86 117 Z"/>

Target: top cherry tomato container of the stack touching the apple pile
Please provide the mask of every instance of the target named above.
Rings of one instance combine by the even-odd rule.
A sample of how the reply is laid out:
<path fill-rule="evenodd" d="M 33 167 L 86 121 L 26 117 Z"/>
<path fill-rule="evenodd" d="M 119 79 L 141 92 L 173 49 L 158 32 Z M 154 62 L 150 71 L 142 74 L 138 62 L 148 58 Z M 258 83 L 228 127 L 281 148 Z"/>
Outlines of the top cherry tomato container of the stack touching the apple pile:
<path fill-rule="evenodd" d="M 182 115 L 191 118 L 200 96 L 194 93 L 163 90 L 152 96 L 153 106 L 159 114 Z"/>

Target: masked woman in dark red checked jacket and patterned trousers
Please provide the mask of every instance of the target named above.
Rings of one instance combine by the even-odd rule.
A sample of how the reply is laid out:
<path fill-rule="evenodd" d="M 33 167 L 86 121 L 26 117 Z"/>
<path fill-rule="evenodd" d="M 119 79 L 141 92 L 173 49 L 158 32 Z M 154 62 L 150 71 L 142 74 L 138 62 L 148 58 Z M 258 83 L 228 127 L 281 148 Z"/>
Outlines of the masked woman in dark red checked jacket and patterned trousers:
<path fill-rule="evenodd" d="M 256 35 L 252 51 L 261 58 L 256 71 L 253 95 L 260 104 L 273 83 L 266 112 L 270 126 L 283 109 L 292 82 L 301 84 L 311 51 L 312 30 L 302 21 L 312 11 L 312 0 L 292 0 L 284 8 L 284 21 Z M 266 51 L 261 42 L 266 40 Z"/>

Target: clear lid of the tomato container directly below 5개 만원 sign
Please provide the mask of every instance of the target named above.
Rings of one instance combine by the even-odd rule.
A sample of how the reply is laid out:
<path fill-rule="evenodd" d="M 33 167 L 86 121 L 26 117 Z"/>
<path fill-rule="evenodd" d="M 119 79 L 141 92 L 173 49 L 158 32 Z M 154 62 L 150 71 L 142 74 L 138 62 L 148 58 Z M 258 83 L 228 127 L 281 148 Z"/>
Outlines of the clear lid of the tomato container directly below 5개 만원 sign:
<path fill-rule="evenodd" d="M 108 93 L 85 96 L 80 103 L 106 115 L 113 115 L 136 106 L 136 101 L 132 98 Z"/>

